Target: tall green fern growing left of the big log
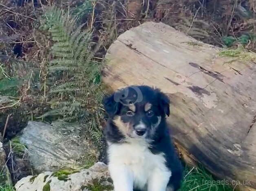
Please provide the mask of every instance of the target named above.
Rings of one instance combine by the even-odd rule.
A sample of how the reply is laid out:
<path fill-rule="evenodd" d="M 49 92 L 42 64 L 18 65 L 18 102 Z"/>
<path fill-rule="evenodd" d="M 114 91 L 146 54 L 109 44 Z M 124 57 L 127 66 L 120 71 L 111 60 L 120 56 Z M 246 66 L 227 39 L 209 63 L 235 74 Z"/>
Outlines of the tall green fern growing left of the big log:
<path fill-rule="evenodd" d="M 41 118 L 59 118 L 79 122 L 81 135 L 101 145 L 104 91 L 100 85 L 100 63 L 93 60 L 100 43 L 92 40 L 92 31 L 77 25 L 77 18 L 52 8 L 42 19 L 42 28 L 52 36 L 53 60 L 48 66 L 49 97 L 52 110 Z"/>

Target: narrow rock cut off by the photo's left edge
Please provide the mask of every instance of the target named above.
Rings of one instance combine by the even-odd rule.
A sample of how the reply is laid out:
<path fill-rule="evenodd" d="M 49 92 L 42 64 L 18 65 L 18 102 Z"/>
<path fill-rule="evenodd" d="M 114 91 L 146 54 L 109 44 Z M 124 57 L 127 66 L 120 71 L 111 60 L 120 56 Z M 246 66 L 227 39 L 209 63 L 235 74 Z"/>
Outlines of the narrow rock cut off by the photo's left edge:
<path fill-rule="evenodd" d="M 6 165 L 6 154 L 2 145 L 2 142 L 0 141 L 0 186 L 1 185 L 11 185 L 11 174 L 9 172 L 9 169 Z"/>

